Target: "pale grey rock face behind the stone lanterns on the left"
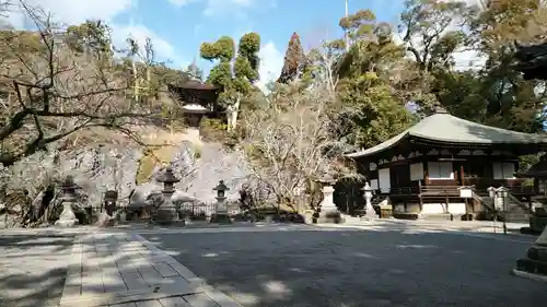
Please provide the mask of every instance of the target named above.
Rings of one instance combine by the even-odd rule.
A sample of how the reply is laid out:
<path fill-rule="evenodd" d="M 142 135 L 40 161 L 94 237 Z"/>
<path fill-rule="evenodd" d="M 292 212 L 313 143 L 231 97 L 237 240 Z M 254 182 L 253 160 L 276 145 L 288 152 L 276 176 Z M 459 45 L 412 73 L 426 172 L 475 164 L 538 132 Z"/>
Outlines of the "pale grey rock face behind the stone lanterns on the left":
<path fill-rule="evenodd" d="M 240 189 L 249 175 L 241 152 L 226 151 L 221 144 L 216 143 L 183 141 L 172 155 L 166 161 L 171 161 L 175 176 L 181 179 L 175 185 L 176 191 L 172 197 L 175 205 L 188 202 L 214 203 L 216 193 L 212 189 L 219 184 L 219 180 L 224 180 L 230 188 L 226 192 L 226 202 L 233 203 L 238 200 Z M 16 178 L 16 181 L 10 181 L 11 186 L 8 189 L 25 187 L 33 201 L 28 202 L 27 208 L 18 211 L 18 219 L 14 219 L 15 216 L 12 219 L 13 214 L 3 210 L 4 214 L 10 214 L 8 219 L 10 222 L 4 223 L 8 224 L 5 226 L 23 223 L 21 216 L 25 212 L 32 212 L 32 216 L 36 219 L 44 215 L 45 205 L 47 205 L 43 203 L 46 187 L 56 186 L 66 176 L 72 176 L 81 188 L 78 210 L 83 210 L 86 206 L 101 206 L 107 190 L 118 191 L 118 205 L 138 209 L 159 202 L 163 198 L 163 185 L 156 180 L 156 175 L 163 170 L 161 166 L 155 166 L 148 182 L 136 184 L 142 156 L 143 151 L 138 147 L 102 145 L 61 152 L 57 155 L 43 153 L 21 162 L 11 169 L 12 175 L 15 174 L 12 178 Z M 165 160 L 165 157 L 163 158 Z M 55 191 L 49 191 L 48 196 L 51 193 L 57 197 L 59 192 L 60 190 L 55 188 Z M 47 202 L 51 202 L 51 205 L 57 203 L 56 199 L 51 199 L 51 197 L 47 198 Z M 7 206 L 3 205 L 3 208 Z M 59 216 L 61 208 L 58 211 L 55 216 Z M 15 222 L 15 220 L 20 222 Z M 98 224 L 104 224 L 105 221 L 98 222 Z"/>

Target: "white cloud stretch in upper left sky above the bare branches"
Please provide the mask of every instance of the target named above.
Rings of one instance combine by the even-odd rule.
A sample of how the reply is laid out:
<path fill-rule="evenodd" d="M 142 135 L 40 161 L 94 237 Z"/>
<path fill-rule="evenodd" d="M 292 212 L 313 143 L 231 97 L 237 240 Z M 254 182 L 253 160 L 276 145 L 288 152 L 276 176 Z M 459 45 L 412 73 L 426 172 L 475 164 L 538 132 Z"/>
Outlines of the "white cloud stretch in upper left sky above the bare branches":
<path fill-rule="evenodd" d="M 170 1 L 183 2 L 182 0 Z M 137 0 L 26 0 L 26 2 L 51 13 L 54 20 L 62 24 L 80 24 L 85 20 L 103 20 L 112 27 L 113 43 L 117 47 L 125 46 L 128 36 L 135 38 L 140 46 L 143 46 L 146 38 L 150 37 L 158 59 L 171 59 L 176 64 L 182 62 L 174 47 L 146 25 L 114 22 L 116 16 L 137 8 Z M 25 27 L 24 16 L 21 13 L 10 14 L 8 21 L 15 27 Z"/>

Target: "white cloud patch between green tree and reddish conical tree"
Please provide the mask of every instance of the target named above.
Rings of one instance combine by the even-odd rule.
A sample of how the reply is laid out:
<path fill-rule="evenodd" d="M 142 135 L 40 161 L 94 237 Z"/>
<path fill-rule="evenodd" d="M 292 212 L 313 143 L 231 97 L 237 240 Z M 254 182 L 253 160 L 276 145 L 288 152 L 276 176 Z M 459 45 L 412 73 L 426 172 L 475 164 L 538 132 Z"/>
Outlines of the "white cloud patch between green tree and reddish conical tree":
<path fill-rule="evenodd" d="M 256 85 L 266 92 L 266 85 L 270 81 L 275 81 L 279 78 L 281 69 L 283 67 L 284 55 L 279 51 L 274 42 L 269 40 L 267 44 L 260 47 L 260 67 L 258 73 L 260 74 L 260 80 Z"/>

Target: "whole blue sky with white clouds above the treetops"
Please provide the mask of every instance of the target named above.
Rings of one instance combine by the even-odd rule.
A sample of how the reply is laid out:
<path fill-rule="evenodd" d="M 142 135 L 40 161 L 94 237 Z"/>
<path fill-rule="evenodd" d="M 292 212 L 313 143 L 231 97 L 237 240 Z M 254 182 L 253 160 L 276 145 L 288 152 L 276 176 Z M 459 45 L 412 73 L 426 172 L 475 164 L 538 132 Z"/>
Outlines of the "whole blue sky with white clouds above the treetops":
<path fill-rule="evenodd" d="M 247 32 L 261 36 L 261 79 L 277 78 L 293 32 L 304 48 L 325 37 L 341 35 L 338 20 L 344 0 L 28 0 L 50 11 L 57 20 L 74 24 L 102 19 L 113 27 L 115 42 L 128 35 L 140 42 L 151 37 L 158 57 L 173 67 L 188 64 L 202 42 L 222 35 L 238 39 Z M 349 0 L 350 12 L 372 9 L 379 20 L 396 22 L 404 0 Z M 20 25 L 18 16 L 10 22 Z M 209 63 L 198 60 L 203 69 Z"/>

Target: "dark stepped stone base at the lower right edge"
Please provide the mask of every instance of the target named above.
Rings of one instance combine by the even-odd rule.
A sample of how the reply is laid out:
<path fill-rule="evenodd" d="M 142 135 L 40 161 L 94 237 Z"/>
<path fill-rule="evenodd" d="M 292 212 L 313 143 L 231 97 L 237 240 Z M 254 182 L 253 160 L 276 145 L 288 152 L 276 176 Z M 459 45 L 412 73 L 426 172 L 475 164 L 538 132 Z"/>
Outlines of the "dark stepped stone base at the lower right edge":
<path fill-rule="evenodd" d="M 517 275 L 542 279 L 547 282 L 547 228 L 545 228 L 526 252 L 526 258 L 516 260 Z"/>

